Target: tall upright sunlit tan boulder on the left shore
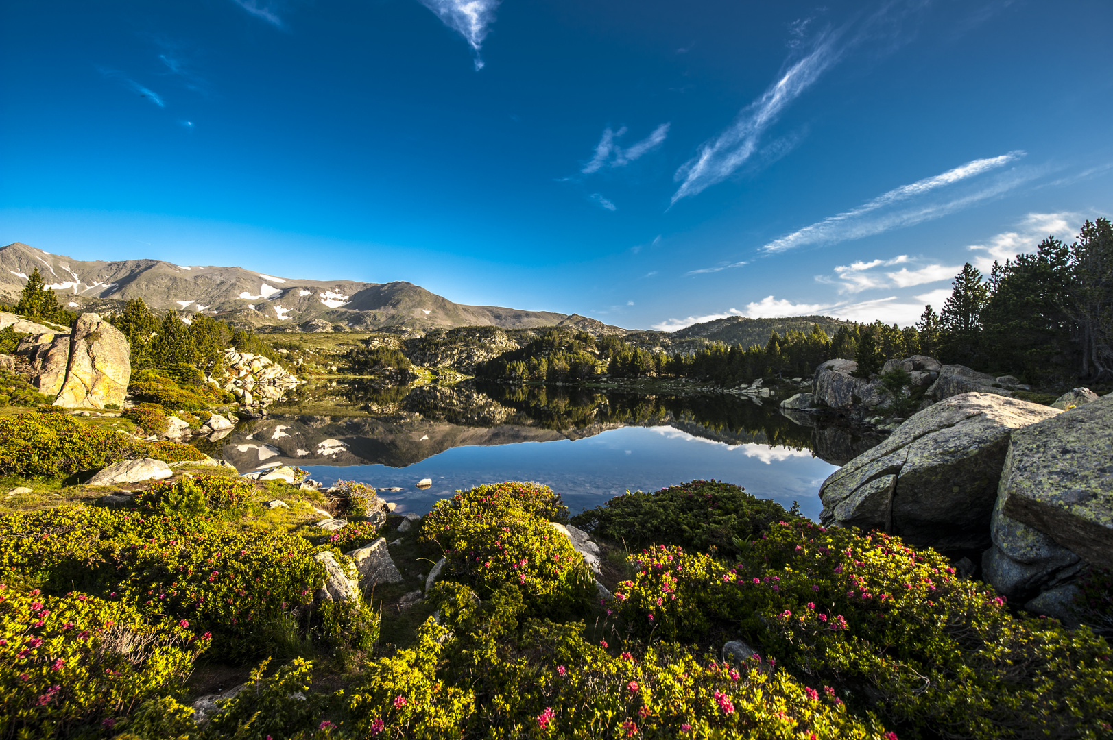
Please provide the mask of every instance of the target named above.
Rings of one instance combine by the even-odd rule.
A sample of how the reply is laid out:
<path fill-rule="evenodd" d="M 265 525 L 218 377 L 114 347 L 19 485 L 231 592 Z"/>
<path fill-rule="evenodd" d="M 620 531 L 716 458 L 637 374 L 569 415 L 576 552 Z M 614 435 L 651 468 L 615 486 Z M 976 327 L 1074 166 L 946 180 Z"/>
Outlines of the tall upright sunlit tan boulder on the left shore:
<path fill-rule="evenodd" d="M 130 351 L 118 328 L 97 314 L 81 314 L 73 325 L 69 368 L 55 405 L 122 405 L 131 378 Z"/>

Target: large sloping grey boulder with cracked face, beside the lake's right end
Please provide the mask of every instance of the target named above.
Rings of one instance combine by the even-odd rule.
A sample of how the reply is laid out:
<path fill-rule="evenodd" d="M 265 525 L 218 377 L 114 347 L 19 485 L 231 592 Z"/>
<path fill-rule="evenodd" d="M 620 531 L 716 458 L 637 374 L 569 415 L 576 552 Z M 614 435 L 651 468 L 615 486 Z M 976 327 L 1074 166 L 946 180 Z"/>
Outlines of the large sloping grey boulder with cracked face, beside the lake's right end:
<path fill-rule="evenodd" d="M 979 393 L 928 406 L 824 481 L 820 521 L 938 550 L 985 547 L 1009 435 L 1058 413 Z"/>

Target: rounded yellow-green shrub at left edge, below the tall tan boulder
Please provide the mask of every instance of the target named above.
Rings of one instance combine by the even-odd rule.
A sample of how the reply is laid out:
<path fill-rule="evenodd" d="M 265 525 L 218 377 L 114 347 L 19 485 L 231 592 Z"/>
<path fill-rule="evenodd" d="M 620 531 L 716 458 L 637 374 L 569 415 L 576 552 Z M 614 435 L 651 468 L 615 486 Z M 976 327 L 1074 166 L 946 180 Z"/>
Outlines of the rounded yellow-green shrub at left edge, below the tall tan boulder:
<path fill-rule="evenodd" d="M 126 435 L 82 424 L 48 408 L 0 420 L 0 473 L 70 475 L 126 456 Z"/>

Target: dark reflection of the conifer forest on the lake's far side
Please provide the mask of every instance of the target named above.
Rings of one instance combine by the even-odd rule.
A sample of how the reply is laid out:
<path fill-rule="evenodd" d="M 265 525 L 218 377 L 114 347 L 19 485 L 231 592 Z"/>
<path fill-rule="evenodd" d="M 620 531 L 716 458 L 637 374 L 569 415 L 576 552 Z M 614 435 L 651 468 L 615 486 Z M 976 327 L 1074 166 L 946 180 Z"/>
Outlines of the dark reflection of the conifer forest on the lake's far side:
<path fill-rule="evenodd" d="M 483 384 L 480 389 L 534 424 L 562 432 L 593 424 L 676 423 L 692 434 L 722 442 L 811 447 L 811 430 L 797 426 L 776 407 L 729 395 L 647 396 L 577 386 L 499 384 Z"/>

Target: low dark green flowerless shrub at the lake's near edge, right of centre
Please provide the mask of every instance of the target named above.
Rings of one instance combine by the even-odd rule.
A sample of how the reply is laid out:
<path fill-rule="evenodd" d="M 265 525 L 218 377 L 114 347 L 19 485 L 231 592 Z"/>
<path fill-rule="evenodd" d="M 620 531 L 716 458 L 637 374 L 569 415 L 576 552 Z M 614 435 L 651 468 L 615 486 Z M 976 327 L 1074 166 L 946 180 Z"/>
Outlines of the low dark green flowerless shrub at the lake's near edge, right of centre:
<path fill-rule="evenodd" d="M 691 481 L 654 493 L 627 493 L 573 516 L 571 523 L 630 549 L 681 545 L 719 555 L 737 554 L 736 537 L 752 537 L 770 525 L 797 520 L 796 507 L 758 499 L 731 483 Z"/>

